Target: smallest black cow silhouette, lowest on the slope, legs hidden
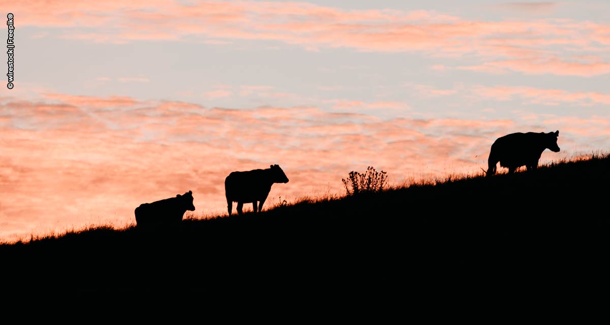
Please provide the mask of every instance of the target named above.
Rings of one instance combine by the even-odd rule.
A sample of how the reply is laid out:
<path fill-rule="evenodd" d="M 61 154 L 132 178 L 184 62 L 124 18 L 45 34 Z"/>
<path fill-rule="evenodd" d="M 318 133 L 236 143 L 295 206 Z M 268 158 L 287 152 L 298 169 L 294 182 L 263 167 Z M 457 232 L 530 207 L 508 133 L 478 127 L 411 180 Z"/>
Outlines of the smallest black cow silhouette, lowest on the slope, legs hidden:
<path fill-rule="evenodd" d="M 178 194 L 175 198 L 140 204 L 135 208 L 135 224 L 139 227 L 178 224 L 187 210 L 195 211 L 192 191 Z"/>

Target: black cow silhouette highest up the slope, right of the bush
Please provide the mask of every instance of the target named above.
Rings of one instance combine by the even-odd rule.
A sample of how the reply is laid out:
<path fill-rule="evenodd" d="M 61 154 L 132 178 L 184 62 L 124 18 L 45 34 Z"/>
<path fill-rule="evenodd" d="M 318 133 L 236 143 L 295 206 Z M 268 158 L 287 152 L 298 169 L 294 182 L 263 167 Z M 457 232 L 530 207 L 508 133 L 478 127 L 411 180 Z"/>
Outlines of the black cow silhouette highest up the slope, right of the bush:
<path fill-rule="evenodd" d="M 555 132 L 517 132 L 504 135 L 493 142 L 492 149 L 487 159 L 487 176 L 496 173 L 496 165 L 500 162 L 501 167 L 508 168 L 508 173 L 514 173 L 517 168 L 525 166 L 528 171 L 536 170 L 540 155 L 545 149 L 559 152 L 557 137 L 559 130 Z"/>

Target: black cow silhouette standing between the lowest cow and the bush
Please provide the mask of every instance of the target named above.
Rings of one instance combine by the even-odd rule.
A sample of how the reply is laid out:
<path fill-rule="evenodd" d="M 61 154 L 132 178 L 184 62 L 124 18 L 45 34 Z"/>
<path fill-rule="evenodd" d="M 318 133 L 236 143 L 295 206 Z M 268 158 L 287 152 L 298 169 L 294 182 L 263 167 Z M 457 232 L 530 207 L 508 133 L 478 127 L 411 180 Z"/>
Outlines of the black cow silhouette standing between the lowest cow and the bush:
<path fill-rule="evenodd" d="M 244 203 L 252 203 L 254 212 L 260 212 L 274 183 L 287 183 L 288 177 L 279 165 L 265 170 L 234 171 L 224 179 L 224 194 L 229 216 L 233 202 L 237 202 L 237 213 L 242 215 Z M 258 202 L 258 203 L 257 203 Z"/>

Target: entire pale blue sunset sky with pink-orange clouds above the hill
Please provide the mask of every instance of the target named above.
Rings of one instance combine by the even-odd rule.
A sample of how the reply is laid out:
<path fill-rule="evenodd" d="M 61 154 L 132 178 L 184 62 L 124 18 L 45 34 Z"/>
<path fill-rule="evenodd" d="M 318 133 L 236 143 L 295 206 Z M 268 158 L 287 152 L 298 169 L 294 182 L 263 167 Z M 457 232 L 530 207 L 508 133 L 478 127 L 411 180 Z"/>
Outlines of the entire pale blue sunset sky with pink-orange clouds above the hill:
<path fill-rule="evenodd" d="M 513 132 L 559 130 L 540 163 L 610 146 L 608 1 L 0 9 L 15 27 L 0 241 L 129 226 L 138 205 L 189 190 L 191 216 L 226 215 L 224 177 L 273 164 L 290 182 L 264 209 L 345 195 L 342 179 L 368 166 L 390 185 L 480 174 Z"/>

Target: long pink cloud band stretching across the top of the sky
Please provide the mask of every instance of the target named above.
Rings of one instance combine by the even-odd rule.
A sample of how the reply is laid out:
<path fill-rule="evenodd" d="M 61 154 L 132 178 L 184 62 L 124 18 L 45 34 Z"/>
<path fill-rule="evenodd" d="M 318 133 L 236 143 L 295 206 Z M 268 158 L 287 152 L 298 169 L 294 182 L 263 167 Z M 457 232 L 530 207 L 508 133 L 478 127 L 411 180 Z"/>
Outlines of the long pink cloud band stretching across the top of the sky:
<path fill-rule="evenodd" d="M 574 52 L 605 52 L 610 45 L 610 26 L 590 21 L 471 21 L 431 10 L 344 10 L 303 2 L 202 1 L 186 5 L 170 0 L 104 4 L 56 0 L 12 5 L 22 17 L 22 26 L 60 27 L 59 37 L 84 41 L 276 40 L 312 51 L 353 48 L 420 51 L 439 57 L 467 55 L 479 63 L 463 69 L 493 73 L 595 76 L 610 71 L 610 63 L 570 58 Z M 502 6 L 540 12 L 557 5 L 515 2 Z"/>

